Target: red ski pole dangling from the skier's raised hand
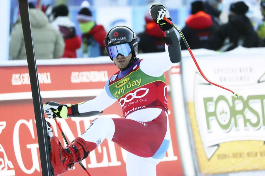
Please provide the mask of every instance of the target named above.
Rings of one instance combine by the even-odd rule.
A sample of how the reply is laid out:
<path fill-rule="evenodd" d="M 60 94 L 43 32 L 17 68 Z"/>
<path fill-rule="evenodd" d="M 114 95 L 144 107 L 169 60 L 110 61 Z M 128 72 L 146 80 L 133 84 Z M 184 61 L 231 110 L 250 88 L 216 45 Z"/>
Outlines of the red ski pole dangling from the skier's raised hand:
<path fill-rule="evenodd" d="M 199 72 L 201 73 L 202 77 L 203 77 L 207 82 L 209 82 L 210 84 L 215 85 L 215 86 L 217 86 L 217 87 L 220 87 L 220 88 L 222 88 L 222 89 L 228 90 L 228 91 L 230 91 L 230 92 L 232 92 L 232 93 L 234 94 L 234 97 L 238 97 L 238 93 L 235 93 L 235 92 L 233 92 L 231 89 L 228 89 L 228 88 L 223 87 L 223 86 L 221 86 L 221 85 L 219 85 L 219 84 L 217 84 L 217 83 L 212 82 L 210 79 L 208 79 L 208 78 L 203 74 L 203 72 L 201 71 L 200 66 L 198 65 L 198 62 L 196 61 L 196 59 L 195 59 L 193 53 L 191 52 L 191 48 L 190 48 L 190 46 L 188 45 L 188 42 L 187 42 L 187 40 L 185 39 L 183 33 L 178 29 L 178 27 L 177 27 L 174 23 L 172 23 L 172 22 L 171 22 L 170 20 L 168 20 L 166 17 L 164 17 L 163 19 L 164 19 L 165 21 L 167 21 L 169 24 L 171 24 L 171 25 L 172 25 L 172 26 L 178 31 L 178 33 L 180 34 L 180 36 L 181 36 L 183 42 L 185 43 L 185 45 L 186 45 L 186 47 L 187 47 L 189 53 L 191 54 L 191 57 L 192 57 L 192 59 L 193 59 L 195 65 L 196 65 L 197 69 L 198 69 Z"/>

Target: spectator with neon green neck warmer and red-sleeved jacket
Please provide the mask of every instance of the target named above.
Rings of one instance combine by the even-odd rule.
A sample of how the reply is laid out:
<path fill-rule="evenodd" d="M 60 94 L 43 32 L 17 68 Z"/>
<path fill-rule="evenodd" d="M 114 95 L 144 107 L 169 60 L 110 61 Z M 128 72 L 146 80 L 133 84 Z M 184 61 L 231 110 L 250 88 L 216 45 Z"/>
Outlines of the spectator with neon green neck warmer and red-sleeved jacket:
<path fill-rule="evenodd" d="M 82 31 L 83 57 L 98 57 L 107 55 L 105 51 L 105 36 L 107 32 L 102 25 L 93 21 L 88 1 L 83 1 L 77 14 L 77 21 Z"/>

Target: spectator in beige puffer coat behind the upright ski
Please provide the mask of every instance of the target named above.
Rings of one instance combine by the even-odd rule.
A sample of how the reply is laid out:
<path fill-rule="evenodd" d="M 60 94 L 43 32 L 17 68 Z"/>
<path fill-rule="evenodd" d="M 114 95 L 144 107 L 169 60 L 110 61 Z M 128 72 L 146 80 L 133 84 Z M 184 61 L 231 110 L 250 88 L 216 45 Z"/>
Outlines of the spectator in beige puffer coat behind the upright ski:
<path fill-rule="evenodd" d="M 59 31 L 48 22 L 47 16 L 33 3 L 29 3 L 32 40 L 36 59 L 53 59 L 62 56 L 64 40 Z M 17 18 L 10 34 L 9 57 L 13 60 L 27 59 L 21 18 Z"/>

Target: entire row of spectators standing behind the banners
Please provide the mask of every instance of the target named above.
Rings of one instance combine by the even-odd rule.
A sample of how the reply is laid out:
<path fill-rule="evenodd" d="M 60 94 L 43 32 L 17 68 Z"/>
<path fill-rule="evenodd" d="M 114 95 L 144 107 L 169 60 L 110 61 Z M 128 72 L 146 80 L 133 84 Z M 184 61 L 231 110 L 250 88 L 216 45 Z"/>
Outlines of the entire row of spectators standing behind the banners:
<path fill-rule="evenodd" d="M 251 23 L 246 13 L 249 7 L 243 2 L 232 3 L 228 22 L 221 23 L 221 0 L 196 0 L 191 3 L 191 14 L 181 29 L 191 49 L 206 48 L 229 51 L 238 46 L 246 48 L 265 46 L 265 0 L 260 2 L 263 20 Z M 97 57 L 106 55 L 105 35 L 102 25 L 95 22 L 88 1 L 83 1 L 76 15 L 78 26 L 69 18 L 65 4 L 41 9 L 29 3 L 30 23 L 36 59 Z M 145 29 L 138 34 L 138 52 L 154 53 L 165 51 L 164 35 L 150 14 L 145 14 Z M 82 32 L 78 36 L 77 27 Z M 187 49 L 180 39 L 181 49 Z M 12 60 L 26 59 L 21 18 L 12 25 L 9 43 L 9 57 Z"/>

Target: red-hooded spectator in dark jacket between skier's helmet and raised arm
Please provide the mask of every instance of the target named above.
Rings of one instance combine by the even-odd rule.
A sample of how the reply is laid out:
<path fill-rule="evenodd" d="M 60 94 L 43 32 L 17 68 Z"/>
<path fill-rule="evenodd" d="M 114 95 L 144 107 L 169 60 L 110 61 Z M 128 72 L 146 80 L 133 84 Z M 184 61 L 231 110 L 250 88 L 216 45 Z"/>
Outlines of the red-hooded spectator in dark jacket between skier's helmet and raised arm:
<path fill-rule="evenodd" d="M 139 53 L 155 53 L 165 51 L 164 34 L 155 23 L 149 12 L 145 14 L 145 31 L 139 33 L 138 52 Z"/>

